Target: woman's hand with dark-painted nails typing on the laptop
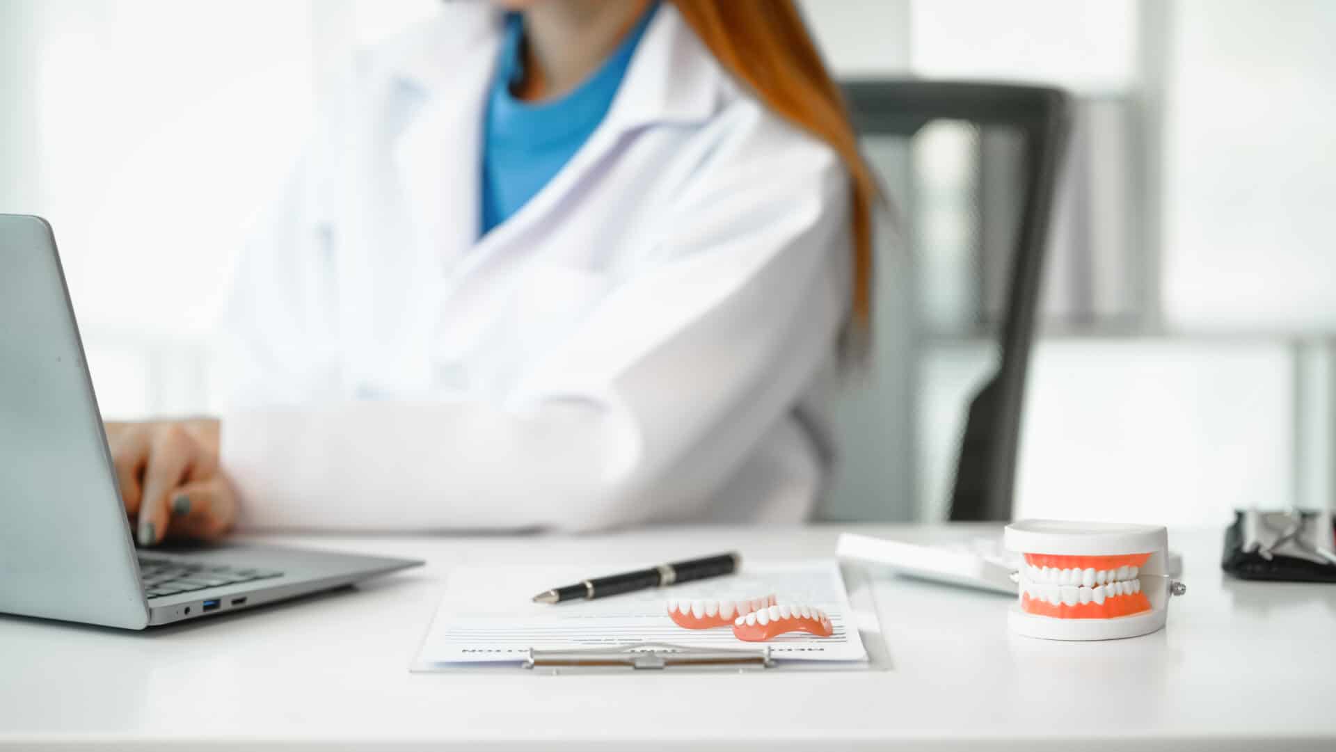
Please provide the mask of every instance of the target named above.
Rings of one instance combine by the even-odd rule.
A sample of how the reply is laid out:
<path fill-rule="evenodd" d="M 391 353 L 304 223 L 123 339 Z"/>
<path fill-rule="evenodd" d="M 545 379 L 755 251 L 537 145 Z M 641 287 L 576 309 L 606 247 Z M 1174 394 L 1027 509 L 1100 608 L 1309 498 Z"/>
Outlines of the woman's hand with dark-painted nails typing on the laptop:
<path fill-rule="evenodd" d="M 212 418 L 107 423 L 122 501 L 139 545 L 164 537 L 216 538 L 236 521 L 236 494 L 218 466 Z"/>

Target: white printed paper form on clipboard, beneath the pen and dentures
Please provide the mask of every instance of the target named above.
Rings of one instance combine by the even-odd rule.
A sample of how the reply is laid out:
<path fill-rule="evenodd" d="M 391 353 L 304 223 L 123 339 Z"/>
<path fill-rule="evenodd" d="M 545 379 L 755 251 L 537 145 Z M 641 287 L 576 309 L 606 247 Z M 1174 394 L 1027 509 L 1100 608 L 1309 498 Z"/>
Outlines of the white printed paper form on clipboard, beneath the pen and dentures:
<path fill-rule="evenodd" d="M 601 570 L 635 569 L 608 564 Z M 517 665 L 536 650 L 616 648 L 669 642 L 684 648 L 759 648 L 733 637 L 729 628 L 685 629 L 668 617 L 669 600 L 741 600 L 775 593 L 780 604 L 824 610 L 830 637 L 791 632 L 764 642 L 776 663 L 867 663 L 852 622 L 854 610 L 834 560 L 744 562 L 727 577 L 713 577 L 564 604 L 534 604 L 533 593 L 588 577 L 589 566 L 461 566 L 450 572 L 445 593 L 413 671 L 457 667 Z"/>

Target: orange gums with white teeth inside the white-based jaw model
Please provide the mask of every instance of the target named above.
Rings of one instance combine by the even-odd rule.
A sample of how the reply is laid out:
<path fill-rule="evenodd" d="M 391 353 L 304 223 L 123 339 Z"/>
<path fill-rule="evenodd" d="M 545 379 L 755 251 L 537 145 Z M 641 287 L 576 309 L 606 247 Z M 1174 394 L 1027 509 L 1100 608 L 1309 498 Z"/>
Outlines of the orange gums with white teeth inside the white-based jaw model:
<path fill-rule="evenodd" d="M 1021 610 L 1054 618 L 1114 618 L 1150 610 L 1137 578 L 1149 558 L 1149 553 L 1027 553 L 1021 569 Z"/>

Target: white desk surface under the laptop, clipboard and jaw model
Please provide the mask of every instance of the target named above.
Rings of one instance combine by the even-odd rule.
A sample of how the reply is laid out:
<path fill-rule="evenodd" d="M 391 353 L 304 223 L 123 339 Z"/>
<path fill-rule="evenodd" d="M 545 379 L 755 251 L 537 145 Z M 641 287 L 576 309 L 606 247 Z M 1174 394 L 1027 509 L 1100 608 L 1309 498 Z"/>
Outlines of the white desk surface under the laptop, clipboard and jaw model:
<path fill-rule="evenodd" d="M 842 529 L 589 538 L 283 538 L 429 565 L 295 605 L 128 633 L 0 617 L 0 748 L 1336 749 L 1336 585 L 1221 581 L 1220 530 L 1170 532 L 1168 630 L 1013 637 L 1009 598 L 887 578 L 883 672 L 534 676 L 406 669 L 452 565 L 830 556 Z M 275 541 L 279 541 L 275 538 Z M 603 717 L 604 720 L 595 720 Z"/>

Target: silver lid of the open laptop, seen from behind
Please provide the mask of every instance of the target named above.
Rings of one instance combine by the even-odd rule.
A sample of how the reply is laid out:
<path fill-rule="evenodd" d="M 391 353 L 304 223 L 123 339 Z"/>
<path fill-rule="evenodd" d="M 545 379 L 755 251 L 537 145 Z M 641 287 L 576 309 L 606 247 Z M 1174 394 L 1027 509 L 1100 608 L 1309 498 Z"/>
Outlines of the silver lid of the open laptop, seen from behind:
<path fill-rule="evenodd" d="M 36 216 L 0 215 L 0 612 L 148 624 L 56 243 Z"/>

